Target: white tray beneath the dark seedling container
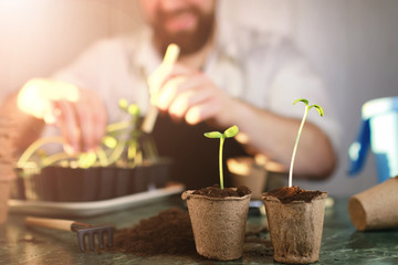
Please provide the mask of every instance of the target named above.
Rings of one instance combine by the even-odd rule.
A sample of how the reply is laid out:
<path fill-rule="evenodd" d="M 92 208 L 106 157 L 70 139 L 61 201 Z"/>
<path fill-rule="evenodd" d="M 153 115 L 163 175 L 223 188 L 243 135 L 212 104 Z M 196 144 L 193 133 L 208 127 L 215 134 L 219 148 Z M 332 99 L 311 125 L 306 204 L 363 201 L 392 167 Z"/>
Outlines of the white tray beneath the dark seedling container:
<path fill-rule="evenodd" d="M 93 202 L 50 202 L 9 200 L 9 211 L 14 213 L 36 215 L 73 215 L 92 216 L 113 212 L 129 206 L 147 203 L 167 195 L 177 194 L 185 190 L 184 184 L 172 184 L 163 189 L 118 197 L 109 200 Z"/>

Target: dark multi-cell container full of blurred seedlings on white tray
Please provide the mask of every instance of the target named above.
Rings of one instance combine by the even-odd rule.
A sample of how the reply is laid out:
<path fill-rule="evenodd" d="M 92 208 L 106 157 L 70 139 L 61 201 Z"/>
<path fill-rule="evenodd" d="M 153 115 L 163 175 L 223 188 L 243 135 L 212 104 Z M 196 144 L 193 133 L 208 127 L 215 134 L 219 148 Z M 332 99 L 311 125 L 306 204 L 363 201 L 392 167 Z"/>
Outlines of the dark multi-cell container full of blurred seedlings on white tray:
<path fill-rule="evenodd" d="M 169 160 L 158 156 L 151 137 L 139 129 L 138 106 L 121 99 L 119 108 L 125 117 L 106 126 L 93 152 L 45 152 L 44 146 L 63 144 L 60 136 L 34 141 L 18 160 L 13 198 L 81 202 L 164 188 Z"/>

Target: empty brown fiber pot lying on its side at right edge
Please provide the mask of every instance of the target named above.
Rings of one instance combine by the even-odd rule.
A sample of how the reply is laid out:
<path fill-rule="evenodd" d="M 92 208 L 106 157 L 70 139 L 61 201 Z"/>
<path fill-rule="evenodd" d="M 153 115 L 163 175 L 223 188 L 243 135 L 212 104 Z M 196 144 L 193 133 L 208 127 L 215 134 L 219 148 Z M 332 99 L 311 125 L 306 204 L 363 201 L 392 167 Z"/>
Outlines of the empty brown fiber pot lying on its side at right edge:
<path fill-rule="evenodd" d="M 352 197 L 348 213 L 358 231 L 398 227 L 398 177 Z"/>

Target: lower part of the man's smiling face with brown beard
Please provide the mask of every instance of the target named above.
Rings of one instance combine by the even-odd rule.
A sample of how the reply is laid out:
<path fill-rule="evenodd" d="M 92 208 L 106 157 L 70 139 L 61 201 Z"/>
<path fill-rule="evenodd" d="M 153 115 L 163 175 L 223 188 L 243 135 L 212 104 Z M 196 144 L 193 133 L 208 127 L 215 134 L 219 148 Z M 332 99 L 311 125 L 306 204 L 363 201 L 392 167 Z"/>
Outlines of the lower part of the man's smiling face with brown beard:
<path fill-rule="evenodd" d="M 180 46 L 181 55 L 192 54 L 212 34 L 214 0 L 142 0 L 140 4 L 161 54 L 170 43 Z"/>

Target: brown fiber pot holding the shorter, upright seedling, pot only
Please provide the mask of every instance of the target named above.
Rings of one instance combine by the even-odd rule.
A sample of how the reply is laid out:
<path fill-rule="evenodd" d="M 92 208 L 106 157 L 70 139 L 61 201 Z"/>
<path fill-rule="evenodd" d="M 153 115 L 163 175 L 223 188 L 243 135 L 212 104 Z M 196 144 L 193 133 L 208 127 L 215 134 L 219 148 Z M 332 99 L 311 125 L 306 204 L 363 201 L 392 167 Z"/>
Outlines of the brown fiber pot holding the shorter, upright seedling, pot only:
<path fill-rule="evenodd" d="M 240 258 L 251 194 L 209 198 L 192 192 L 185 191 L 181 198 L 187 201 L 198 254 L 218 261 Z"/>

